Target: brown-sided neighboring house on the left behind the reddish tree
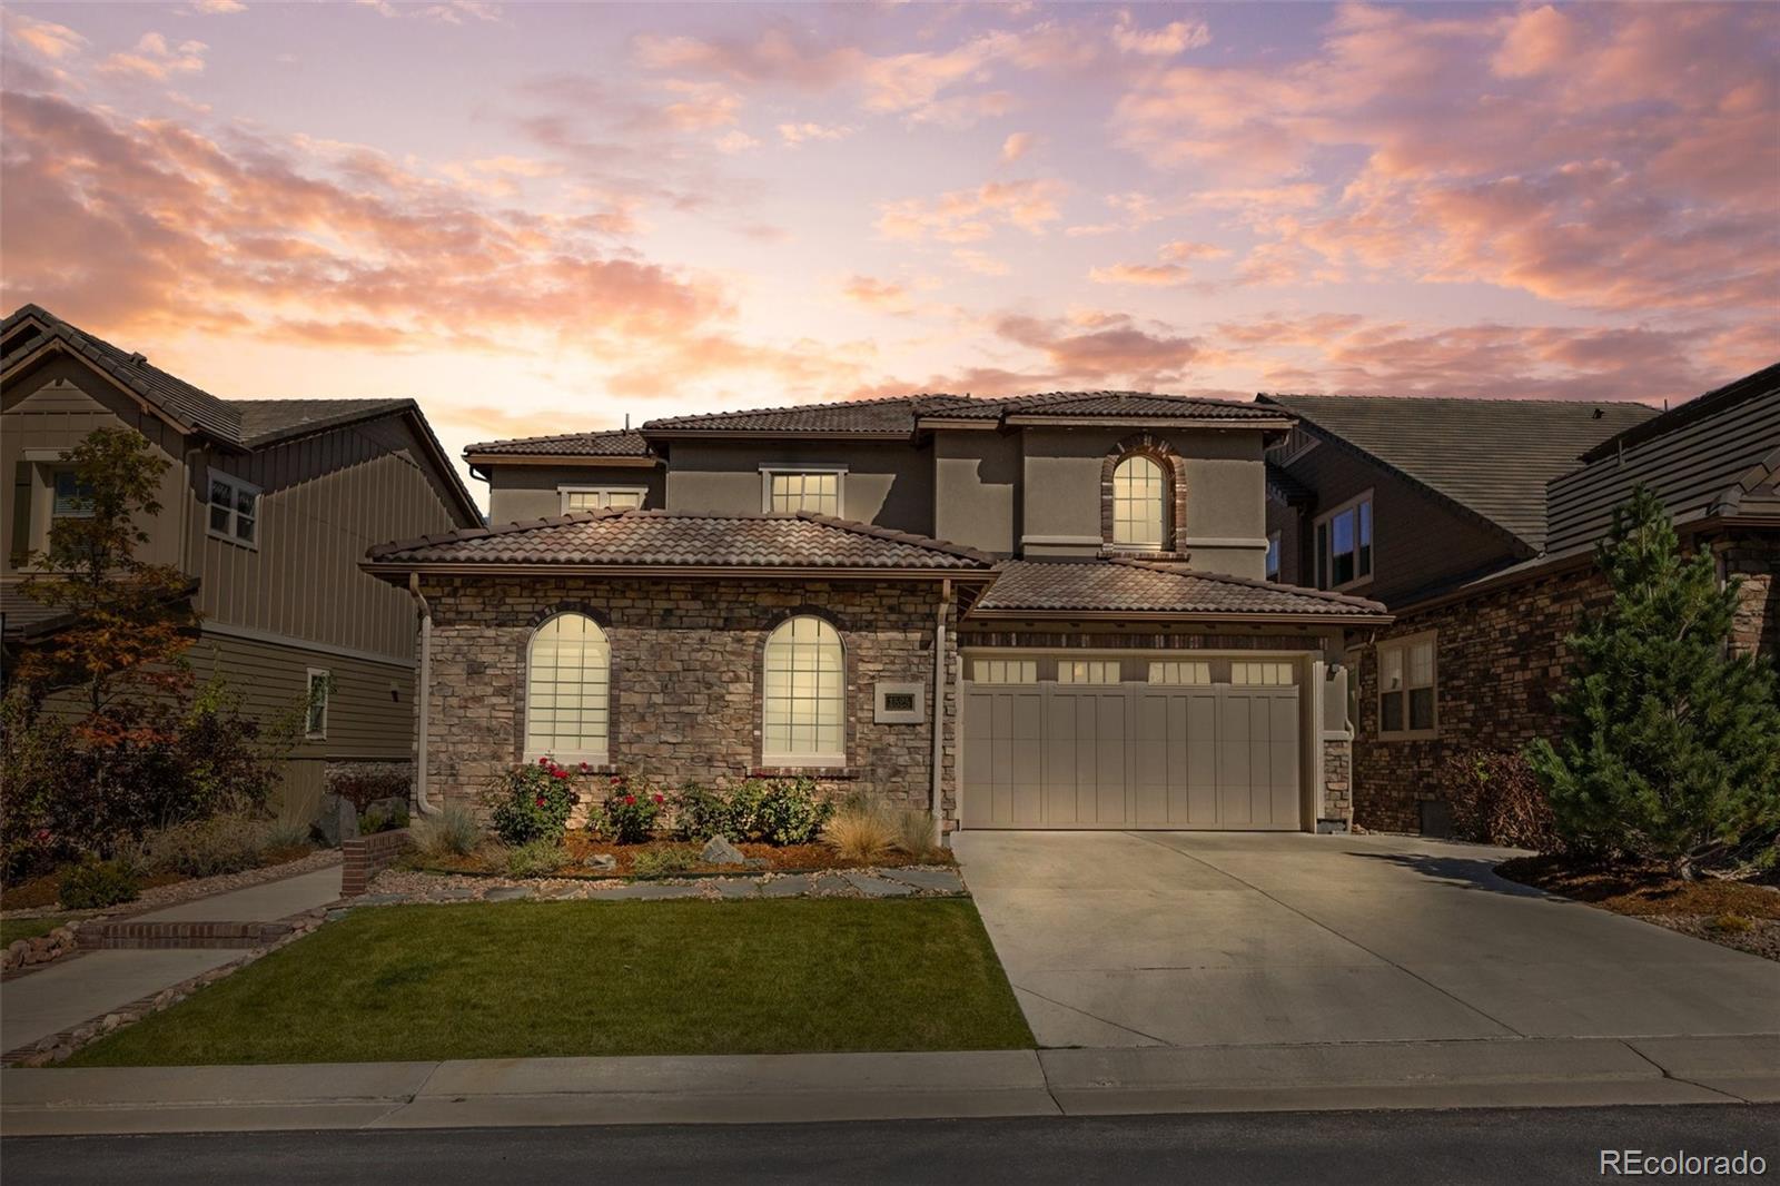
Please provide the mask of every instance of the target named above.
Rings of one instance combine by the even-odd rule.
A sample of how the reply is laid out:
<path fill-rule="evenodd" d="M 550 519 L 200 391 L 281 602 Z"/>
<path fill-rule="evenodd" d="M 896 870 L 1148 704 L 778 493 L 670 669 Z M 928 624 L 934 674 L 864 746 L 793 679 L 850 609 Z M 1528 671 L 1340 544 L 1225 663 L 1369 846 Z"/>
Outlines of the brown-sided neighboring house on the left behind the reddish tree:
<path fill-rule="evenodd" d="M 9 650 L 55 629 L 20 586 L 25 556 L 71 509 L 64 451 L 132 427 L 171 461 L 139 556 L 192 579 L 198 677 L 221 673 L 262 716 L 326 687 L 303 723 L 288 810 L 320 796 L 329 768 L 408 768 L 413 605 L 358 561 L 379 540 L 481 522 L 411 399 L 217 399 L 36 305 L 0 324 L 0 399 Z"/>

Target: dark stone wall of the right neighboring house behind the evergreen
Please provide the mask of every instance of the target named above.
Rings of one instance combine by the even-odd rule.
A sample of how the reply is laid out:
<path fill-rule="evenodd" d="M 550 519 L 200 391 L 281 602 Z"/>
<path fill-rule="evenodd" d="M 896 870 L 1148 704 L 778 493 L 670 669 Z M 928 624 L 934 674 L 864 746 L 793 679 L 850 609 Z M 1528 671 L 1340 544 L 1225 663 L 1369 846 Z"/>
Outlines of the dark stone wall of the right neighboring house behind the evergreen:
<path fill-rule="evenodd" d="M 1775 654 L 1780 602 L 1773 573 L 1780 536 L 1743 532 L 1712 547 L 1728 572 L 1741 573 L 1743 613 L 1737 643 Z M 1577 614 L 1606 605 L 1609 589 L 1593 565 L 1504 586 L 1431 609 L 1397 611 L 1376 638 L 1436 632 L 1435 737 L 1387 739 L 1378 734 L 1378 650 L 1358 664 L 1360 703 L 1355 739 L 1355 823 L 1383 832 L 1419 832 L 1420 805 L 1442 800 L 1440 768 L 1470 750 L 1517 751 L 1558 730 L 1554 696 L 1563 687 L 1570 650 L 1565 638 Z"/>

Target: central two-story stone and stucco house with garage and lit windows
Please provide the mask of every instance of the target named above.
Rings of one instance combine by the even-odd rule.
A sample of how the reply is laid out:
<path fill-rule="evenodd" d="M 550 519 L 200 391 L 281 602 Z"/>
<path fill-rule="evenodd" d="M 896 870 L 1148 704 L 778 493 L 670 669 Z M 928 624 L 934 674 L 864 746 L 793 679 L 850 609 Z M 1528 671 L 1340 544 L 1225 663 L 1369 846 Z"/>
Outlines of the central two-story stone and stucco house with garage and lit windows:
<path fill-rule="evenodd" d="M 550 755 L 799 773 L 945 828 L 1349 810 L 1347 630 L 1269 584 L 1278 408 L 902 399 L 470 445 L 491 525 L 372 548 L 422 604 L 422 778 Z"/>

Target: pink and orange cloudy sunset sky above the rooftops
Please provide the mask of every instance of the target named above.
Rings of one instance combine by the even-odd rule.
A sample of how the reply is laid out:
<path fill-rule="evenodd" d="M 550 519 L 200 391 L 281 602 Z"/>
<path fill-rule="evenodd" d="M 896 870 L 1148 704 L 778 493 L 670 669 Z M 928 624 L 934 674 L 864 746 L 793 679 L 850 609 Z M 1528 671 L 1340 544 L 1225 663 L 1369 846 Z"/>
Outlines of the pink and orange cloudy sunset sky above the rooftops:
<path fill-rule="evenodd" d="M 1780 356 L 1780 7 L 11 4 L 5 306 L 447 447 Z"/>

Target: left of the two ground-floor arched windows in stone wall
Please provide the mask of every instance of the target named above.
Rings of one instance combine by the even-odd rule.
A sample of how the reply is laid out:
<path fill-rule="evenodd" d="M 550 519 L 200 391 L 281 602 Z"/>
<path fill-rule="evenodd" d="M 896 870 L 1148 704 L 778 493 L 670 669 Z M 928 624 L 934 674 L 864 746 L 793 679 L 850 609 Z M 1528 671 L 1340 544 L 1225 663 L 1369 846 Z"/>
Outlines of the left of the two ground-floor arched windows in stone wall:
<path fill-rule="evenodd" d="M 603 762 L 611 725 L 612 648 L 587 614 L 557 614 L 525 654 L 525 757 Z"/>

